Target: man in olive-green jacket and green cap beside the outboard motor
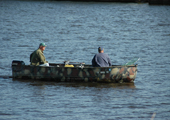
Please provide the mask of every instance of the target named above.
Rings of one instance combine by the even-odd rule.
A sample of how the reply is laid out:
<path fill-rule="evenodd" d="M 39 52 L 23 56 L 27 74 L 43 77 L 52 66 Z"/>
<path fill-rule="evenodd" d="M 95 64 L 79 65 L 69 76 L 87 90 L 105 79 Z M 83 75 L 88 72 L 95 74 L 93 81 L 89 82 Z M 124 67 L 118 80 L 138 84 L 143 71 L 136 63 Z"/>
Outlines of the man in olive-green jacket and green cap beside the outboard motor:
<path fill-rule="evenodd" d="M 33 53 L 31 53 L 30 55 L 31 65 L 49 66 L 43 54 L 43 51 L 45 50 L 46 46 L 47 45 L 45 45 L 45 43 L 40 43 L 39 48 L 35 50 Z"/>

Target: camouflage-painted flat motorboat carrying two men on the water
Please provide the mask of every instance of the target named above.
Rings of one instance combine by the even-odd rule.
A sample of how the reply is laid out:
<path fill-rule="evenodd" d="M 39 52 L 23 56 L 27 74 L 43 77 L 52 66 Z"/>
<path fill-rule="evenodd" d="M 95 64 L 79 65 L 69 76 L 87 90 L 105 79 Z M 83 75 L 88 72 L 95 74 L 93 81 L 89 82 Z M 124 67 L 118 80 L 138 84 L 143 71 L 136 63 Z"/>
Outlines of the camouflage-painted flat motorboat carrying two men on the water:
<path fill-rule="evenodd" d="M 56 64 L 50 66 L 25 65 L 23 61 L 12 62 L 12 77 L 63 82 L 134 82 L 137 65 L 113 65 L 92 67 L 85 64 Z"/>

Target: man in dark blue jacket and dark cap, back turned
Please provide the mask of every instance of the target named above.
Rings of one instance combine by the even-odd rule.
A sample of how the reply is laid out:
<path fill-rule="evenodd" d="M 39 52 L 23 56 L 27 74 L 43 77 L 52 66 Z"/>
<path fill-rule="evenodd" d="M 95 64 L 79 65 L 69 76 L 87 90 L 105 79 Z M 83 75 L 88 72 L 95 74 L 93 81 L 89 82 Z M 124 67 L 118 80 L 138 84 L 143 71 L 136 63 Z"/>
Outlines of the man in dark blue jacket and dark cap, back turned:
<path fill-rule="evenodd" d="M 98 54 L 96 54 L 92 59 L 93 67 L 109 67 L 112 66 L 110 58 L 104 53 L 104 48 L 98 48 Z"/>

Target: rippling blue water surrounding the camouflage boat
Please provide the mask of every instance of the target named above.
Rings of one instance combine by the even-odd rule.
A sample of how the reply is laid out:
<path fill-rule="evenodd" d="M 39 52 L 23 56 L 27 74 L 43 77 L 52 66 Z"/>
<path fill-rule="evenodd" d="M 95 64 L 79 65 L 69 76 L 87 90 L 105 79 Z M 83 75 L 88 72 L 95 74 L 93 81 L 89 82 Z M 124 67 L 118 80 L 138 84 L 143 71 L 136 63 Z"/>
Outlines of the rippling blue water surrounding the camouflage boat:
<path fill-rule="evenodd" d="M 168 120 L 170 7 L 137 3 L 0 1 L 0 119 Z M 13 80 L 39 43 L 49 62 L 91 64 L 98 46 L 112 64 L 140 57 L 134 84 Z"/>

